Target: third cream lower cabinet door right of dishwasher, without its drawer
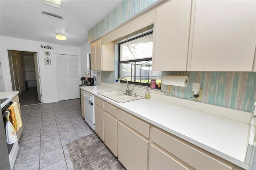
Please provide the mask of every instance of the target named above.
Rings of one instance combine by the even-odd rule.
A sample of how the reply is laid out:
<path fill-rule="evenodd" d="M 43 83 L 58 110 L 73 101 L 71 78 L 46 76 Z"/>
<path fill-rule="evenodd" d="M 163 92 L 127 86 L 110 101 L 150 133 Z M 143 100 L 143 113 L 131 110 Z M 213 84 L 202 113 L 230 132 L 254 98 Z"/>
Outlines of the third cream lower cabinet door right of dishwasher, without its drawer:
<path fill-rule="evenodd" d="M 118 122 L 118 160 L 126 169 L 148 169 L 149 142 Z"/>

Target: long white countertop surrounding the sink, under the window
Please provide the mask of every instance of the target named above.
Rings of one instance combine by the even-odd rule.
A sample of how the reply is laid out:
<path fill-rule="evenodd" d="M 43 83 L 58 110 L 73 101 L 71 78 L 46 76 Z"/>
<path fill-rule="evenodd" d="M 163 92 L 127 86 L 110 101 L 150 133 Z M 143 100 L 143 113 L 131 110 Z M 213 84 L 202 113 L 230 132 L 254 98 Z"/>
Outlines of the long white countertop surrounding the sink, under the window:
<path fill-rule="evenodd" d="M 246 123 L 155 99 L 117 103 L 98 94 L 116 91 L 102 85 L 80 88 L 200 148 L 248 169 L 248 164 L 244 162 L 250 125 Z"/>

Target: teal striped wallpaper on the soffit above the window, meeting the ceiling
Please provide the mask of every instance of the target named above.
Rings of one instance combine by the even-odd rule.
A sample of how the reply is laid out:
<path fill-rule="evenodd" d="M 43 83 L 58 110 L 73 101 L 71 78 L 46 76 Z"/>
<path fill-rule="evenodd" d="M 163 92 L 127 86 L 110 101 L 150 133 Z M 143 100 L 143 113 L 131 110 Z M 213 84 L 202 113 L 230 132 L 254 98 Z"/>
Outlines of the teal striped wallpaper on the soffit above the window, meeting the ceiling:
<path fill-rule="evenodd" d="M 92 29 L 88 31 L 88 42 L 96 40 L 105 32 L 108 32 L 116 26 L 124 23 L 138 12 L 144 10 L 157 0 L 124 0 Z"/>

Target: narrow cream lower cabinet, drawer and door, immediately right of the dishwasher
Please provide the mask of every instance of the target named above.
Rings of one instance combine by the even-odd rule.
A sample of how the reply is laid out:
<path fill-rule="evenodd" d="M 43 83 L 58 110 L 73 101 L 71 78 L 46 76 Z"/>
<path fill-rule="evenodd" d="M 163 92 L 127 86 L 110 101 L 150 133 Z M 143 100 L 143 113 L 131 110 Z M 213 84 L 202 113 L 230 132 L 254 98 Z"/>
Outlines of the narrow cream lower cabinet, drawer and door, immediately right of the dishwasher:
<path fill-rule="evenodd" d="M 95 132 L 100 139 L 104 142 L 104 105 L 103 101 L 98 97 L 94 98 L 95 109 Z"/>

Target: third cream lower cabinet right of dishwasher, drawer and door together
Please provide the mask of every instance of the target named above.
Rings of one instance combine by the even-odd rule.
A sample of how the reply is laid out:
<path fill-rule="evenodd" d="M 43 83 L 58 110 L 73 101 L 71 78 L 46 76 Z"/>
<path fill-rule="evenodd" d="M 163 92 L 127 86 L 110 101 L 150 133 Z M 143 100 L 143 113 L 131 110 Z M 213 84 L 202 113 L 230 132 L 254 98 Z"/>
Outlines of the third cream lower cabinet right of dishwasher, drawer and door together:
<path fill-rule="evenodd" d="M 118 160 L 126 169 L 148 169 L 150 125 L 118 109 Z"/>

